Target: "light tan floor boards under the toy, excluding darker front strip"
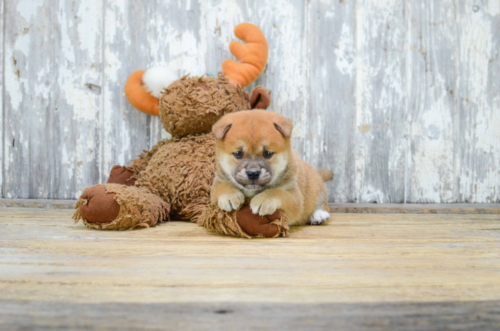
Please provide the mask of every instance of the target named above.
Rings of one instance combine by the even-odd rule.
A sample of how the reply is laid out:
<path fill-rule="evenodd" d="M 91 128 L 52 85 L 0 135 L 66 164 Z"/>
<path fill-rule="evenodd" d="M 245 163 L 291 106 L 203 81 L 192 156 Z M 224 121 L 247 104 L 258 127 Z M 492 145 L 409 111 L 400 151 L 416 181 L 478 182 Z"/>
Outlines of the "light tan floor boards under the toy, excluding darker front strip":
<path fill-rule="evenodd" d="M 331 214 L 288 238 L 195 224 L 93 231 L 72 211 L 3 208 L 0 297 L 101 302 L 499 300 L 498 215 Z"/>

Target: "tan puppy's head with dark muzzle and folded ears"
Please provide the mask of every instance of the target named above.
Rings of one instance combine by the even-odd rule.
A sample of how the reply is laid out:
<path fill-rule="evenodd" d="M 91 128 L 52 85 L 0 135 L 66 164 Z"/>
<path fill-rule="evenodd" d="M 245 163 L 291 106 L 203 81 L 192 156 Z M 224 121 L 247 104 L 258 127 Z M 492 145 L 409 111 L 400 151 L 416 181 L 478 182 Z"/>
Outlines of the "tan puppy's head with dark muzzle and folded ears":
<path fill-rule="evenodd" d="M 291 120 L 264 110 L 225 115 L 212 128 L 219 170 L 249 194 L 277 184 L 290 157 L 292 128 Z"/>

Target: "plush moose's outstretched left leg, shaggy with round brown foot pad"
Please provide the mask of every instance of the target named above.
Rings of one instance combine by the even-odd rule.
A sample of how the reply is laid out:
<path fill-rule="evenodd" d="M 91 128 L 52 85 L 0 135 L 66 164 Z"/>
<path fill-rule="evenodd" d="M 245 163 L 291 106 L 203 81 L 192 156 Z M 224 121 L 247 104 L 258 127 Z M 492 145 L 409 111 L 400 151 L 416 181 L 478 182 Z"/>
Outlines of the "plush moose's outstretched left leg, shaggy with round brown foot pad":
<path fill-rule="evenodd" d="M 73 219 L 88 228 L 127 230 L 149 227 L 168 218 L 170 205 L 136 186 L 99 184 L 85 189 Z"/>

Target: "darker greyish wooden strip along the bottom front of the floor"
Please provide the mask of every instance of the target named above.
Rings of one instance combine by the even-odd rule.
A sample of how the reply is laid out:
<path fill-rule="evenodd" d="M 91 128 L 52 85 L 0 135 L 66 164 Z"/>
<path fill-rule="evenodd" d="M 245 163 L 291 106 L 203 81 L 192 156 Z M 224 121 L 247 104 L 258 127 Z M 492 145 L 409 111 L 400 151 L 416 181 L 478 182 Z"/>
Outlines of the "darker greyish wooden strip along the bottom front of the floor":
<path fill-rule="evenodd" d="M 500 301 L 398 303 L 68 303 L 0 301 L 17 329 L 497 331 Z"/>

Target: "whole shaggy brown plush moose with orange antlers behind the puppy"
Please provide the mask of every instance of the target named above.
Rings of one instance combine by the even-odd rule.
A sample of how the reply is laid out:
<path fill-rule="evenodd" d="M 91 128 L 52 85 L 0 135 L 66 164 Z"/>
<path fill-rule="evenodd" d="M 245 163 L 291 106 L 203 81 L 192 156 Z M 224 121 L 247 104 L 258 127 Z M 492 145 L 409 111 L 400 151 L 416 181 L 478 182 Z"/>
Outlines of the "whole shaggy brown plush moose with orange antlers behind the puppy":
<path fill-rule="evenodd" d="M 270 91 L 243 87 L 259 77 L 267 62 L 267 41 L 249 23 L 239 24 L 231 42 L 240 61 L 226 60 L 223 75 L 185 77 L 153 68 L 129 77 L 125 92 L 138 110 L 159 115 L 172 138 L 158 142 L 128 166 L 115 165 L 106 184 L 85 189 L 73 219 L 89 228 L 126 230 L 153 226 L 170 216 L 191 220 L 212 231 L 243 238 L 286 236 L 288 219 L 281 211 L 260 217 L 248 205 L 226 213 L 210 202 L 215 174 L 215 138 L 212 125 L 224 114 L 266 109 Z M 246 201 L 248 203 L 248 201 Z"/>

